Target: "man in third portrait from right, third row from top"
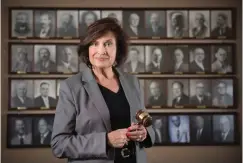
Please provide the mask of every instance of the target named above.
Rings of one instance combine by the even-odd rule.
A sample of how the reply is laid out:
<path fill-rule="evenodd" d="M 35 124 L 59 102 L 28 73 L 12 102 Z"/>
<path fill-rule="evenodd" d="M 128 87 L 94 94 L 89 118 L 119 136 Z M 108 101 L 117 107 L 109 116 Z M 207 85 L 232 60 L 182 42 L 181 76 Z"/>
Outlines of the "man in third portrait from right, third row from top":
<path fill-rule="evenodd" d="M 189 104 L 189 97 L 184 93 L 184 84 L 180 81 L 172 83 L 172 106 L 182 106 Z"/>

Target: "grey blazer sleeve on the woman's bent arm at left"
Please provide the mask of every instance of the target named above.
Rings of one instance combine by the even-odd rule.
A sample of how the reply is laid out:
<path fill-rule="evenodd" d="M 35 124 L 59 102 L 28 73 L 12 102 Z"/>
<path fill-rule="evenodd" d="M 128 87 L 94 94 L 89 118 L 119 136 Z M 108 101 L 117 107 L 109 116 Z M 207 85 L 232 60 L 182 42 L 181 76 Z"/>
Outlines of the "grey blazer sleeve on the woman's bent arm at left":
<path fill-rule="evenodd" d="M 106 133 L 80 135 L 75 132 L 76 108 L 72 91 L 66 81 L 61 82 L 59 100 L 51 138 L 52 153 L 57 158 L 108 158 Z"/>

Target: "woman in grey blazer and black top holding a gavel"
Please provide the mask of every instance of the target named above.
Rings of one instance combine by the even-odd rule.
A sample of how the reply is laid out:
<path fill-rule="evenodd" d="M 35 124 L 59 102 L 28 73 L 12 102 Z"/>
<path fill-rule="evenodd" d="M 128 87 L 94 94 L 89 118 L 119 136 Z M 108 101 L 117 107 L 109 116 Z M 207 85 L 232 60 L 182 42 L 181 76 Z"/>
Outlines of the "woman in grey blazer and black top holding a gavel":
<path fill-rule="evenodd" d="M 78 52 L 87 68 L 60 85 L 51 140 L 56 157 L 75 163 L 146 163 L 144 148 L 155 136 L 152 127 L 133 123 L 144 101 L 138 79 L 118 68 L 127 46 L 115 19 L 89 26 Z"/>

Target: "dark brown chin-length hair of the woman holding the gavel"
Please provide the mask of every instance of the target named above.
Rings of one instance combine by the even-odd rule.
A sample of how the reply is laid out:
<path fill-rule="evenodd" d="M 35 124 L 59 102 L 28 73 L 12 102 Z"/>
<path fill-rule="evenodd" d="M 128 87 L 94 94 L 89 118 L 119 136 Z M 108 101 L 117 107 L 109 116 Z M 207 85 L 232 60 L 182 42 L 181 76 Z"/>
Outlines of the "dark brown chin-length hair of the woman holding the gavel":
<path fill-rule="evenodd" d="M 88 29 L 84 39 L 80 41 L 78 46 L 78 55 L 80 59 L 89 67 L 92 65 L 89 60 L 89 46 L 98 38 L 104 36 L 106 33 L 112 32 L 116 38 L 116 67 L 122 65 L 127 59 L 128 37 L 122 30 L 115 18 L 103 18 L 92 23 Z"/>

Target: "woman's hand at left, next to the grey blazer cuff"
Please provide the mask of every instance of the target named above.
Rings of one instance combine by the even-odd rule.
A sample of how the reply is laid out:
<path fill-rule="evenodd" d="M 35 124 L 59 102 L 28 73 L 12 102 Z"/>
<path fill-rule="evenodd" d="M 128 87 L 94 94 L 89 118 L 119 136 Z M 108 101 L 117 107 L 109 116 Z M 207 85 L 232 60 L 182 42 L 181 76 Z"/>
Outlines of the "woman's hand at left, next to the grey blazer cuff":
<path fill-rule="evenodd" d="M 118 129 L 108 133 L 108 143 L 114 148 L 122 148 L 129 139 L 127 138 L 128 129 Z"/>

